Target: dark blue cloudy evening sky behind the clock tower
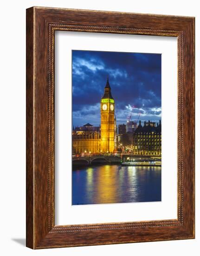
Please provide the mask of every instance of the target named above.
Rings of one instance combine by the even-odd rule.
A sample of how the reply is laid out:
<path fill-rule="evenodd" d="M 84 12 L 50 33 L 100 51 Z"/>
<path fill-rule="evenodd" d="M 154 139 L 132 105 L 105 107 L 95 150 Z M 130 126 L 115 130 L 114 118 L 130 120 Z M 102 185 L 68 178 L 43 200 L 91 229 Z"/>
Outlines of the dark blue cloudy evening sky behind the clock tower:
<path fill-rule="evenodd" d="M 161 119 L 161 54 L 72 51 L 72 122 L 101 122 L 100 101 L 109 75 L 117 124 Z"/>

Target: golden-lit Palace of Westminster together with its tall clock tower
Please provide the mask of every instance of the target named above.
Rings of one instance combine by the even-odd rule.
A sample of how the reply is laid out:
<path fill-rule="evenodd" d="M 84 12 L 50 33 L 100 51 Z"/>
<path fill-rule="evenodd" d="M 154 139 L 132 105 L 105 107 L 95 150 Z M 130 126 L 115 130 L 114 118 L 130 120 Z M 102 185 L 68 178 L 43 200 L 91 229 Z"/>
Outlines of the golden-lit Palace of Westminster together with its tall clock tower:
<path fill-rule="evenodd" d="M 101 98 L 101 127 L 87 123 L 72 131 L 72 153 L 112 153 L 117 145 L 115 101 L 107 79 Z"/>

